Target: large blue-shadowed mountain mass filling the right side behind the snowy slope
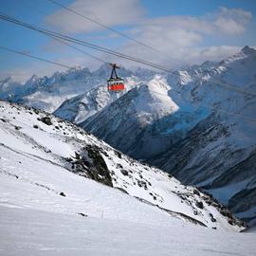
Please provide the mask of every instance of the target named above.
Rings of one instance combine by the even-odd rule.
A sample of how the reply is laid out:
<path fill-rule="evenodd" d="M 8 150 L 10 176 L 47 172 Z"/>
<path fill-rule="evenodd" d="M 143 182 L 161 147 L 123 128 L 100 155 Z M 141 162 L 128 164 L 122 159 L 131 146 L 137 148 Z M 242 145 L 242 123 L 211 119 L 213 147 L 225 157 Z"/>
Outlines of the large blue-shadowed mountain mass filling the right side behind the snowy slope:
<path fill-rule="evenodd" d="M 252 224 L 256 217 L 255 66 L 256 51 L 246 46 L 220 63 L 155 75 L 118 100 L 104 101 L 104 108 L 86 103 L 94 101 L 93 94 L 83 95 L 82 109 L 90 115 L 72 107 L 69 111 L 85 130 L 186 184 L 206 189 Z M 73 100 L 81 107 L 80 101 Z M 56 113 L 66 118 L 63 107 Z"/>

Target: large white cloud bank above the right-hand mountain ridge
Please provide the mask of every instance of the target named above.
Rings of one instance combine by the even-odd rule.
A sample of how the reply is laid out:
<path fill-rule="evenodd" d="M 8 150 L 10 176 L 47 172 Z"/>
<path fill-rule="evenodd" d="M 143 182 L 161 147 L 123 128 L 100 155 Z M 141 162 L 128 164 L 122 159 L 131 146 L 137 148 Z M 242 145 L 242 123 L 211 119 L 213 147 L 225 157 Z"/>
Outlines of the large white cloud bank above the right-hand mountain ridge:
<path fill-rule="evenodd" d="M 225 42 L 226 37 L 243 33 L 251 18 L 251 13 L 242 9 L 220 8 L 217 12 L 202 17 L 168 16 L 144 19 L 131 30 L 131 35 L 160 52 L 132 42 L 123 46 L 121 51 L 169 67 L 222 59 L 239 51 L 240 47 L 204 46 L 205 40 L 221 36 Z"/>

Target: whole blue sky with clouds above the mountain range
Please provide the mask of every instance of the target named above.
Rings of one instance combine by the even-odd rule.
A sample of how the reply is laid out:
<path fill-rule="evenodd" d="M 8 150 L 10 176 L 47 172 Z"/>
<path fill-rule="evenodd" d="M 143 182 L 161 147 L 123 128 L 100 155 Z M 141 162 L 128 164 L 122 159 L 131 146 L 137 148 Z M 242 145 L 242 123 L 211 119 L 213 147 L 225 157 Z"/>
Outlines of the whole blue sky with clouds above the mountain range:
<path fill-rule="evenodd" d="M 221 60 L 243 46 L 256 46 L 254 0 L 56 1 L 153 46 L 160 53 L 91 24 L 47 0 L 2 0 L 0 11 L 27 23 L 60 31 L 170 68 L 178 68 L 181 64 L 199 64 L 206 60 Z M 101 64 L 38 32 L 5 21 L 0 21 L 0 27 L 0 46 L 72 66 L 97 68 Z M 82 49 L 106 62 L 135 65 Z M 12 75 L 25 80 L 33 73 L 50 75 L 56 70 L 63 68 L 0 50 L 0 77 Z"/>

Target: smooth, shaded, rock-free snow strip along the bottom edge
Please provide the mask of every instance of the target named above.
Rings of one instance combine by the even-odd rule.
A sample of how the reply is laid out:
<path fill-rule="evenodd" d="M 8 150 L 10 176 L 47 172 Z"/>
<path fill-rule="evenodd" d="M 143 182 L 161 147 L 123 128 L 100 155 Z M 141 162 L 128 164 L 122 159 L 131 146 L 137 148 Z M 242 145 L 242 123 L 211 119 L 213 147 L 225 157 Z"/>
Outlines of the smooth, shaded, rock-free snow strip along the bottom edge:
<path fill-rule="evenodd" d="M 256 254 L 255 233 L 163 227 L 0 207 L 0 253 L 62 256 L 215 256 Z"/>

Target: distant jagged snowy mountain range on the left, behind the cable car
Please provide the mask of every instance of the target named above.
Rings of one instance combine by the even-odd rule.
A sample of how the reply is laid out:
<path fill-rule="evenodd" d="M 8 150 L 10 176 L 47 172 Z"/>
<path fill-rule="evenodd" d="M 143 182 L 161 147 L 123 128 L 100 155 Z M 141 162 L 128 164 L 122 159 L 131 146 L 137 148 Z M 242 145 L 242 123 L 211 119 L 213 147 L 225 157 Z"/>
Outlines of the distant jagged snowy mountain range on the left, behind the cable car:
<path fill-rule="evenodd" d="M 110 72 L 110 65 L 102 64 L 92 72 L 88 68 L 77 67 L 65 72 L 56 72 L 51 77 L 41 78 L 34 75 L 24 84 L 7 78 L 0 81 L 0 100 L 19 102 L 51 113 L 70 98 L 100 85 L 106 86 Z M 119 75 L 124 78 L 129 88 L 148 80 L 154 72 L 142 68 L 132 71 L 121 67 Z"/>

